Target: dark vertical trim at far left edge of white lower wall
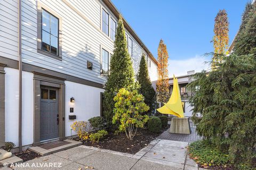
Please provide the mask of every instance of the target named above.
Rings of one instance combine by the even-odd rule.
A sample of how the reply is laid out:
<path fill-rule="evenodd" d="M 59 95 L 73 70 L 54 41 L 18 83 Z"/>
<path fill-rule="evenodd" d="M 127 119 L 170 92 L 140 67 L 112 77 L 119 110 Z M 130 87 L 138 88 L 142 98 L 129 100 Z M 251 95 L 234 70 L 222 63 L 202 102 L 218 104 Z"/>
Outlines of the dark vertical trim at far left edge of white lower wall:
<path fill-rule="evenodd" d="M 5 66 L 0 63 L 0 147 L 5 142 Z"/>

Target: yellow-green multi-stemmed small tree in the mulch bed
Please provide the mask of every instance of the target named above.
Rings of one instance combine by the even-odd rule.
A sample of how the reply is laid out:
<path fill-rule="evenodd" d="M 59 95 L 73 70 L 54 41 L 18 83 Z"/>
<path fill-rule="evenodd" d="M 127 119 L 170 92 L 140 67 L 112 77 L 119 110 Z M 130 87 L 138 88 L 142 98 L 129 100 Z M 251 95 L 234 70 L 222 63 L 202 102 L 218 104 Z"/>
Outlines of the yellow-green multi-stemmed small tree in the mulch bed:
<path fill-rule="evenodd" d="M 119 130 L 124 131 L 127 138 L 132 140 L 137 128 L 143 128 L 149 120 L 148 115 L 141 115 L 141 113 L 147 112 L 149 107 L 144 103 L 144 97 L 137 90 L 128 91 L 122 88 L 114 100 L 116 102 L 115 115 L 112 123 L 119 122 Z"/>

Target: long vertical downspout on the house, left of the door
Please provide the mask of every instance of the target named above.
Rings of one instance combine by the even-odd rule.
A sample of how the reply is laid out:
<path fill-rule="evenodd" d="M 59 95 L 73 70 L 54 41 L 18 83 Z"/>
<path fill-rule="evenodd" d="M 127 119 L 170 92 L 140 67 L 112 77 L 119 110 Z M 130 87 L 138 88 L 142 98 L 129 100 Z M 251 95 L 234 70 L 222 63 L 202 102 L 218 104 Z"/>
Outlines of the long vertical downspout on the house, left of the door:
<path fill-rule="evenodd" d="M 21 0 L 18 0 L 18 52 L 19 52 L 19 152 L 22 152 L 22 56 L 21 56 Z"/>

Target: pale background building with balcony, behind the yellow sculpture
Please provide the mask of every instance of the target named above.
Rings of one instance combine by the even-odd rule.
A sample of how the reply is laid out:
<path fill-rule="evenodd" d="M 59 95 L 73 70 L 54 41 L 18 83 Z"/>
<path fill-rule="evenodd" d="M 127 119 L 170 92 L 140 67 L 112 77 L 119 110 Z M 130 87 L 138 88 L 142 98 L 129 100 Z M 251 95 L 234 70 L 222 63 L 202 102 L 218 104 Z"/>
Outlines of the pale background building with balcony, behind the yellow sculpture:
<path fill-rule="evenodd" d="M 178 78 L 178 83 L 179 83 L 179 89 L 180 89 L 180 96 L 181 96 L 181 102 L 183 106 L 183 112 L 185 117 L 191 117 L 192 116 L 192 111 L 193 107 L 190 106 L 188 100 L 189 97 L 191 96 L 191 92 L 187 89 L 187 84 L 192 80 L 191 75 L 193 75 L 195 71 L 188 71 L 187 75 L 181 75 L 176 78 Z M 152 86 L 156 90 L 156 82 L 152 82 Z M 169 90 L 170 90 L 170 96 L 172 95 L 172 88 L 173 88 L 173 78 L 169 78 Z M 173 115 L 169 115 L 173 116 Z"/>

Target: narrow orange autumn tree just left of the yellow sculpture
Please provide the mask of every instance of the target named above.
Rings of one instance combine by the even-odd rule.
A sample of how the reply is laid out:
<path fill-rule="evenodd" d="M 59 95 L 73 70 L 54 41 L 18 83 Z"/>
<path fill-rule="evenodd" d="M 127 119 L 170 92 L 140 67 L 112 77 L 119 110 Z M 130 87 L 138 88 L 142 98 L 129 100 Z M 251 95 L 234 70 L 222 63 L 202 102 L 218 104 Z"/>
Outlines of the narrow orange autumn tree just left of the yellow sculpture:
<path fill-rule="evenodd" d="M 168 53 L 164 41 L 161 39 L 158 46 L 158 80 L 156 83 L 157 101 L 160 103 L 167 102 L 169 99 L 168 85 Z"/>

